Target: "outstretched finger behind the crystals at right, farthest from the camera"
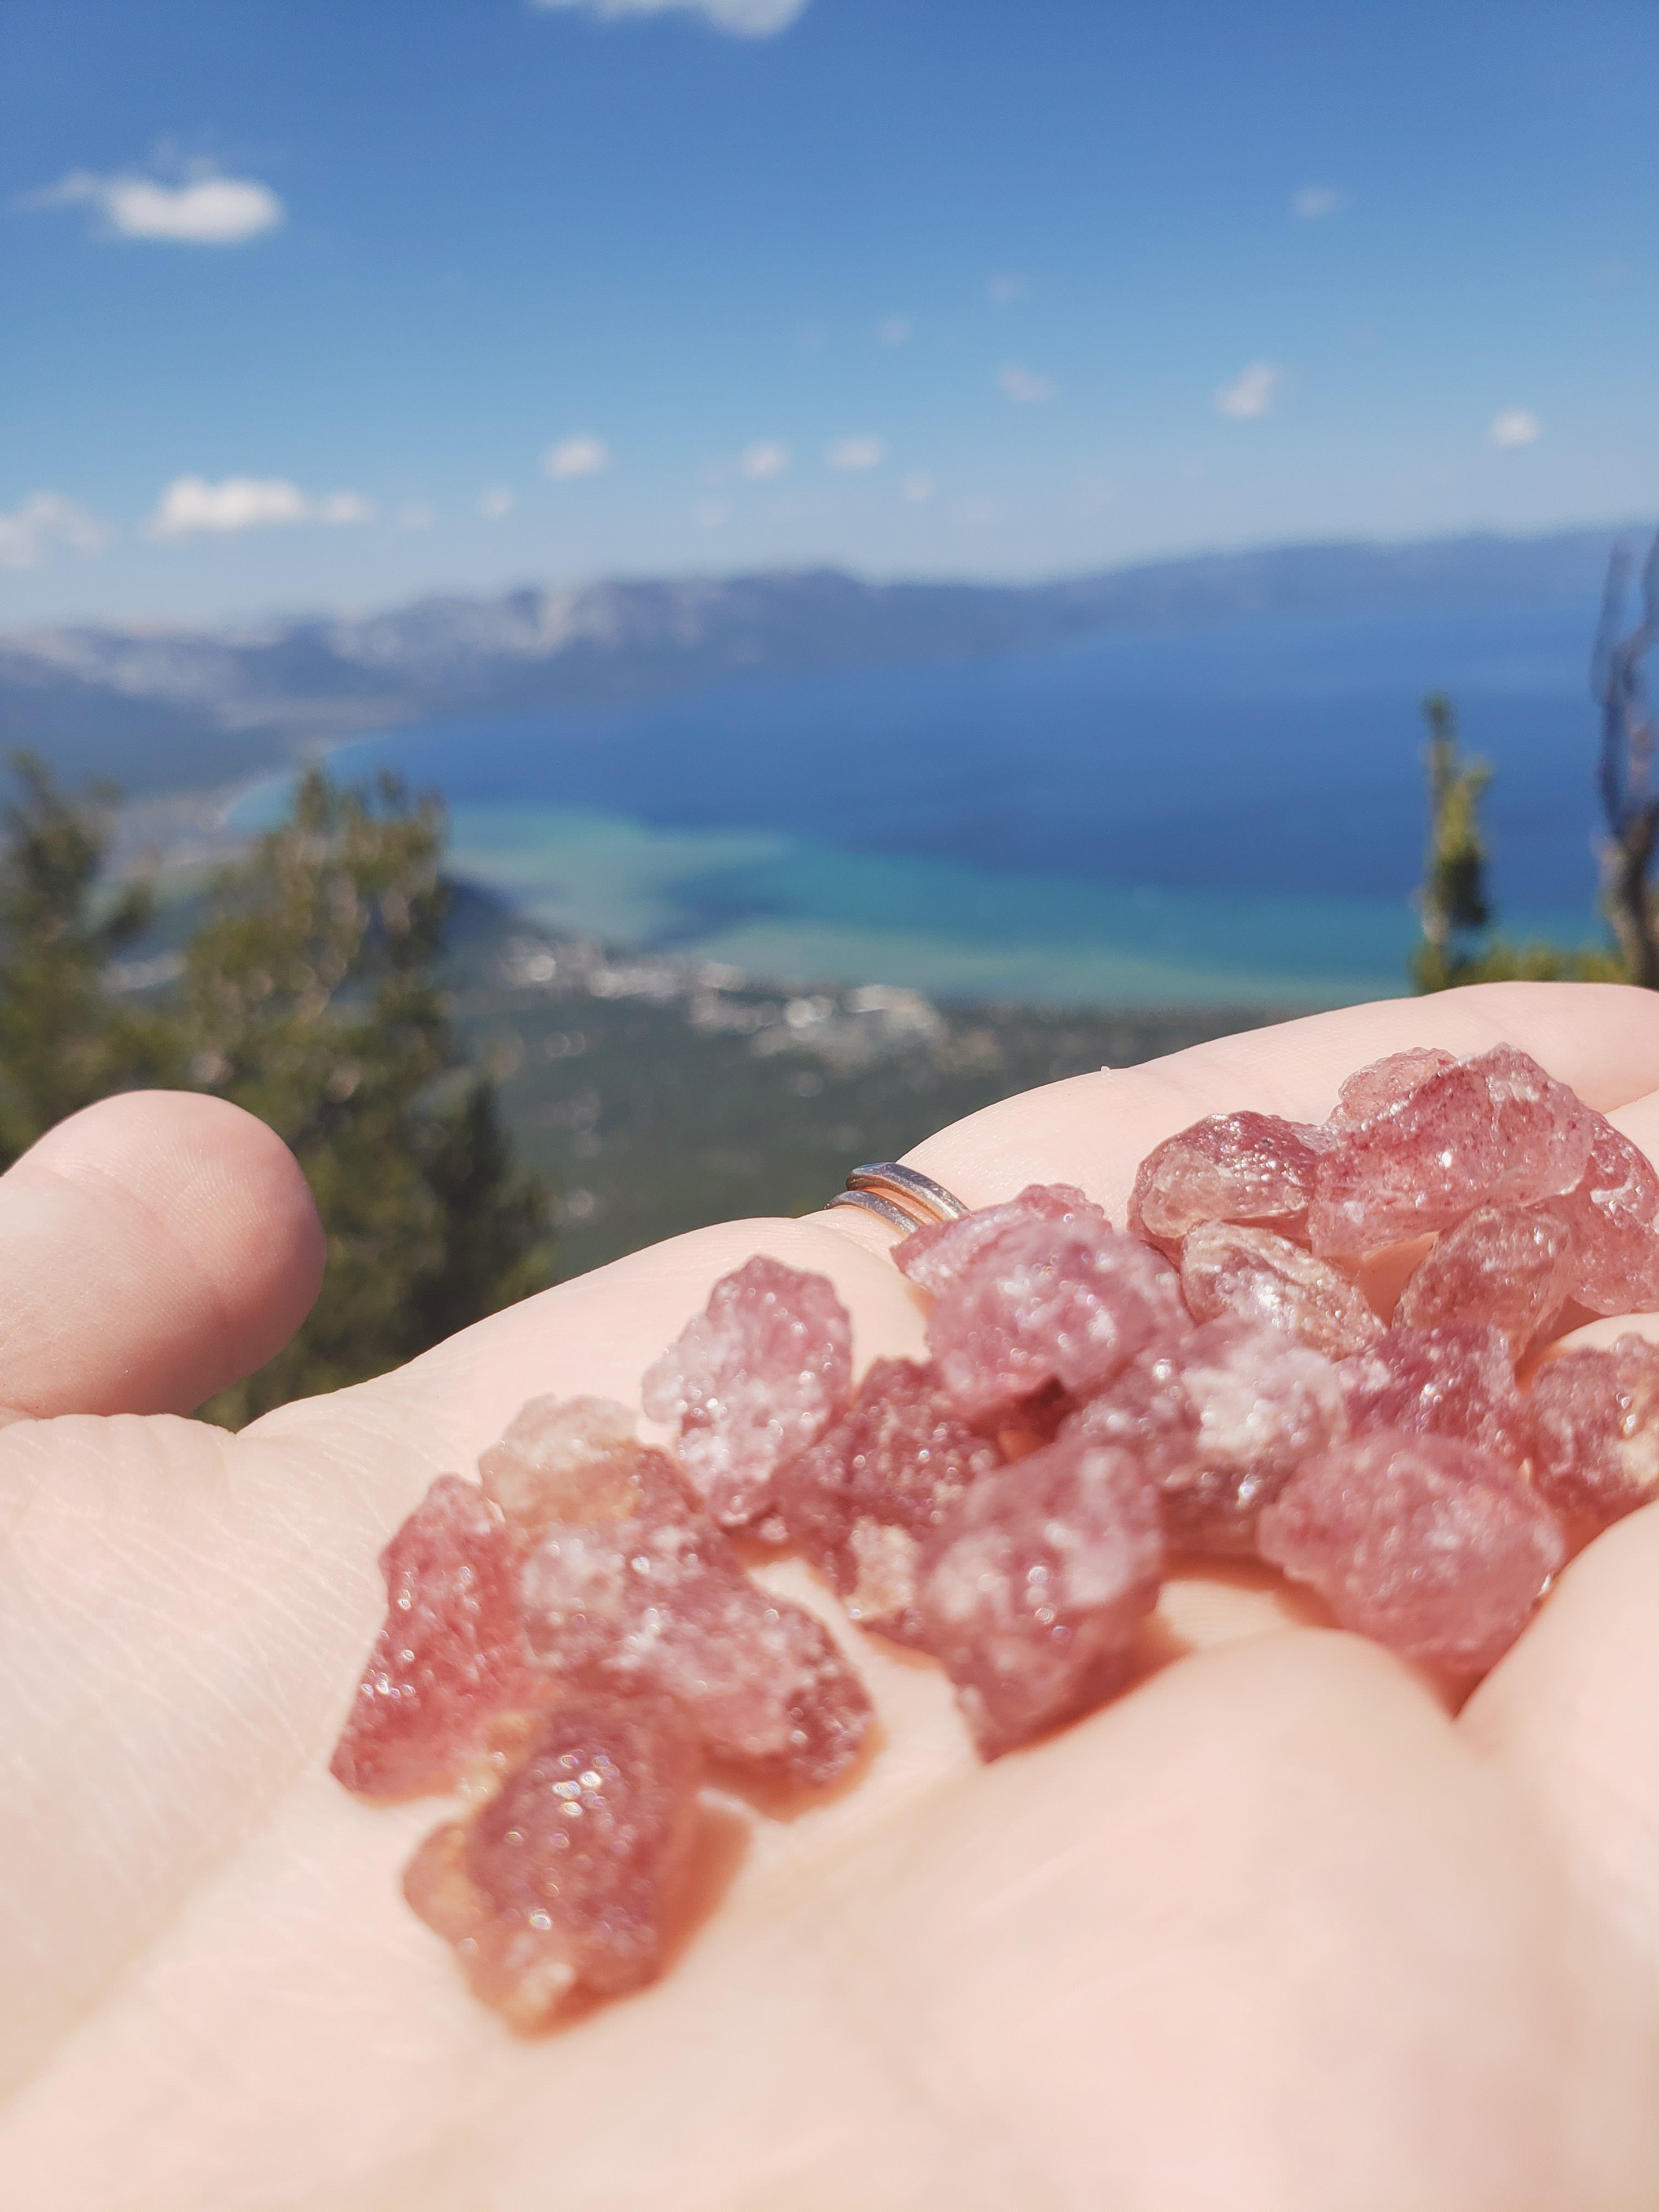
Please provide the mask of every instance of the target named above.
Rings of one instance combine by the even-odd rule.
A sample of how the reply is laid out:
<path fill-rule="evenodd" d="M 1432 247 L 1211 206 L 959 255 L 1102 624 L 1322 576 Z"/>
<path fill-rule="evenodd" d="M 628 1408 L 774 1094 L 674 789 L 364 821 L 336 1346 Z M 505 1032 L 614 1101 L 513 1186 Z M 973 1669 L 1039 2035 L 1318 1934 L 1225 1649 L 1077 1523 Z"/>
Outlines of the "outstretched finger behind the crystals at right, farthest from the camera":
<path fill-rule="evenodd" d="M 1316 1121 L 1336 1104 L 1345 1075 L 1413 1044 L 1453 1053 L 1517 1044 L 1606 1113 L 1659 1091 L 1659 993 L 1502 982 L 1345 1006 L 1004 1099 L 907 1159 L 969 1206 L 1024 1183 L 1068 1181 L 1121 1219 L 1135 1166 L 1199 1115 L 1254 1108 Z"/>

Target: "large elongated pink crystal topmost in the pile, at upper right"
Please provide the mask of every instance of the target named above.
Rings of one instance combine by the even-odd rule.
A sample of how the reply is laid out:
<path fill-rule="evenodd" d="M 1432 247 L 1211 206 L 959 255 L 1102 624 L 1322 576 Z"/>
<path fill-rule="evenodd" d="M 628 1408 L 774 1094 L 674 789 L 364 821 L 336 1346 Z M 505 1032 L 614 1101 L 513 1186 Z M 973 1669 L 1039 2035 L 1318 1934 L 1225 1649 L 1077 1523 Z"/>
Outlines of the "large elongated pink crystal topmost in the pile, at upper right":
<path fill-rule="evenodd" d="M 1307 1232 L 1356 1256 L 1444 1230 L 1486 1203 L 1528 1206 L 1584 1175 L 1595 1117 L 1526 1053 L 1495 1044 L 1438 1068 L 1369 1121 L 1334 1126 Z"/>

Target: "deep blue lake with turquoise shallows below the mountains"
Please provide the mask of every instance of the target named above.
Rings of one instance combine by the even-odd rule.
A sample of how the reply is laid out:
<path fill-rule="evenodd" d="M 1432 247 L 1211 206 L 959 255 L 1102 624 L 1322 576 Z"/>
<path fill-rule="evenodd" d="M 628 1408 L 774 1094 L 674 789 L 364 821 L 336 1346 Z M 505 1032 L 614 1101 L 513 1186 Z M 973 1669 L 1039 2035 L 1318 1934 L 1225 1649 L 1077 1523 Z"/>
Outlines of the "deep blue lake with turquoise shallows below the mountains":
<path fill-rule="evenodd" d="M 754 672 L 389 730 L 334 765 L 440 790 L 458 874 L 549 922 L 757 975 L 1329 1004 L 1402 987 L 1431 688 L 1495 768 L 1506 931 L 1597 940 L 1595 617 L 1586 597 Z"/>

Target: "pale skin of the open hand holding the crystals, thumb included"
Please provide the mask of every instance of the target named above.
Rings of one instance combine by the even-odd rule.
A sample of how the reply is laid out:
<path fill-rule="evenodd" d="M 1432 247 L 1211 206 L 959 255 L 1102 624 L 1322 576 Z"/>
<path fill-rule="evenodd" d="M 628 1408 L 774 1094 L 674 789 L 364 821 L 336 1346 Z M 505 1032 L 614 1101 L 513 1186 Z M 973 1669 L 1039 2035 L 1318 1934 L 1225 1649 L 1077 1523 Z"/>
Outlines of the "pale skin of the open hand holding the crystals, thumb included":
<path fill-rule="evenodd" d="M 1659 1000 L 1509 984 L 1077 1077 L 911 1157 L 1121 1221 L 1201 1113 L 1321 1117 L 1385 1051 L 1500 1037 L 1659 1152 Z M 526 1396 L 635 1400 L 754 1250 L 834 1276 L 860 1365 L 916 1352 L 889 1241 L 845 1210 L 699 1232 L 228 1438 L 179 1416 L 319 1279 L 274 1139 L 117 1099 L 0 1181 L 9 2205 L 1650 2212 L 1659 1509 L 1460 1710 L 1265 1577 L 1183 1575 L 1128 1694 L 982 1767 L 931 1663 L 847 1630 L 874 1761 L 710 1820 L 655 1989 L 538 2039 L 465 1995 L 396 1889 L 445 1807 L 325 1772 L 376 1551 Z"/>

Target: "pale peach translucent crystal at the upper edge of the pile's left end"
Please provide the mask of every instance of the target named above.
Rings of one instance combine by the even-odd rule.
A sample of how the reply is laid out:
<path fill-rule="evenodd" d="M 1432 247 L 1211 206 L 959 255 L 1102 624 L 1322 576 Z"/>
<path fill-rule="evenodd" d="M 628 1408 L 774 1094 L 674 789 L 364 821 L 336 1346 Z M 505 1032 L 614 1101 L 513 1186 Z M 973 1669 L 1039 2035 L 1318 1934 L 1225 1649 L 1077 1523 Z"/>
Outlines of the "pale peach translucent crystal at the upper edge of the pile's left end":
<path fill-rule="evenodd" d="M 675 1462 L 641 1444 L 633 1413 L 611 1398 L 531 1398 L 478 1473 L 484 1498 L 524 1540 L 555 1522 L 692 1513 Z"/>

